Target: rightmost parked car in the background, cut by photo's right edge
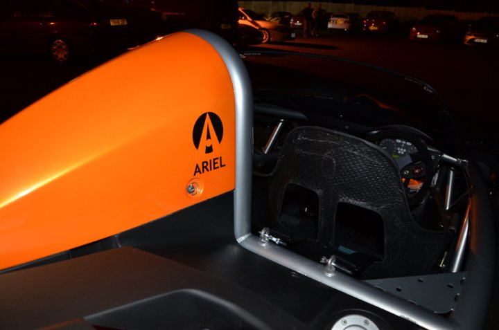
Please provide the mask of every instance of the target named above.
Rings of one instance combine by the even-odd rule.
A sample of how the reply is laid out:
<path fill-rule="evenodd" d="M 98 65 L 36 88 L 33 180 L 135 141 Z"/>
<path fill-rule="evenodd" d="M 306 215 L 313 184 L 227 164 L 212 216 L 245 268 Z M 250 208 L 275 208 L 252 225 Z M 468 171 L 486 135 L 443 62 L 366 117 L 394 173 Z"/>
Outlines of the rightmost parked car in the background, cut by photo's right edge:
<path fill-rule="evenodd" d="M 476 46 L 499 46 L 499 17 L 481 17 L 470 24 L 463 43 Z"/>

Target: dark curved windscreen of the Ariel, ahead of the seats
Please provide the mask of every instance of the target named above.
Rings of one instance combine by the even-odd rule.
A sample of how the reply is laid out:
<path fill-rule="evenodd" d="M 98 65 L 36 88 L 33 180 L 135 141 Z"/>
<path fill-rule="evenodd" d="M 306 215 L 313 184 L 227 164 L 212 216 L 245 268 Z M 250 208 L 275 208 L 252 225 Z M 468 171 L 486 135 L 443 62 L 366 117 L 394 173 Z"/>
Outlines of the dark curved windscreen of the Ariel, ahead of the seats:
<path fill-rule="evenodd" d="M 275 51 L 242 57 L 258 100 L 365 126 L 412 125 L 426 132 L 435 131 L 441 115 L 448 115 L 431 86 L 376 66 Z"/>

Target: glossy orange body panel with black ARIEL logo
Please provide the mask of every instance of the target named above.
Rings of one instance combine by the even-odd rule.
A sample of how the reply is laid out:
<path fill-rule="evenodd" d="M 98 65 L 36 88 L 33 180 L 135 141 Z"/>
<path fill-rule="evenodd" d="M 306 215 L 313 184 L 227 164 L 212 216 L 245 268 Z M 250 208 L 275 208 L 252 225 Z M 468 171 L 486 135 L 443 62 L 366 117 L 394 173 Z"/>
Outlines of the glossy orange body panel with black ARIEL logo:
<path fill-rule="evenodd" d="M 4 122 L 0 269 L 234 190 L 234 102 L 216 50 L 176 33 L 85 73 Z M 207 112 L 222 122 L 220 142 L 220 125 L 203 120 L 216 118 L 202 116 Z M 192 180 L 195 196 L 186 192 Z"/>

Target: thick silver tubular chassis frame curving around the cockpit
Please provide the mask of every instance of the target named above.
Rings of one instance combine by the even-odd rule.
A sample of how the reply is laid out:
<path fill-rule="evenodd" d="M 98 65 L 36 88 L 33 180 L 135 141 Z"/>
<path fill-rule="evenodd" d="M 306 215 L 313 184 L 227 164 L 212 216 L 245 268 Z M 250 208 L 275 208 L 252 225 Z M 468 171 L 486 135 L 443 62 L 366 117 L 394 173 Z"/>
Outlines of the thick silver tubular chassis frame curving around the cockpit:
<path fill-rule="evenodd" d="M 187 30 L 205 39 L 216 48 L 224 60 L 234 86 L 236 109 L 236 188 L 234 190 L 234 235 L 236 241 L 267 259 L 315 279 L 352 297 L 410 320 L 426 329 L 479 329 L 482 327 L 489 306 L 493 281 L 495 242 L 493 216 L 487 189 L 478 167 L 466 167 L 466 176 L 473 187 L 471 192 L 470 246 L 464 271 L 468 272 L 464 290 L 450 318 L 431 313 L 400 297 L 374 288 L 340 272 L 334 275 L 324 271 L 324 266 L 274 244 L 261 244 L 251 228 L 252 202 L 252 150 L 253 150 L 253 100 L 247 70 L 240 55 L 224 39 L 204 30 Z"/>

